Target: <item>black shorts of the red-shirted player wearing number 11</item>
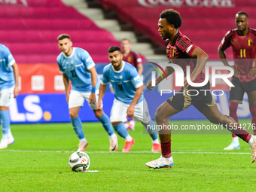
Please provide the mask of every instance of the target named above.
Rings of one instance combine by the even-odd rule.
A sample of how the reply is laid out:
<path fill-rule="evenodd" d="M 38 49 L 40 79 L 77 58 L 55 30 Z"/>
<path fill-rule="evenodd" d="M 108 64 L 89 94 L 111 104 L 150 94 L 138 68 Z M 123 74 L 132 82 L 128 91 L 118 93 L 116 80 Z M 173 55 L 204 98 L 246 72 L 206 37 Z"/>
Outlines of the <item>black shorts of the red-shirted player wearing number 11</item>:
<path fill-rule="evenodd" d="M 231 78 L 231 83 L 235 87 L 230 87 L 230 96 L 229 100 L 238 100 L 240 103 L 242 103 L 243 95 L 248 92 L 256 90 L 256 78 L 254 80 L 248 81 L 248 82 L 241 82 L 239 81 L 239 78 L 236 78 L 233 76 Z"/>

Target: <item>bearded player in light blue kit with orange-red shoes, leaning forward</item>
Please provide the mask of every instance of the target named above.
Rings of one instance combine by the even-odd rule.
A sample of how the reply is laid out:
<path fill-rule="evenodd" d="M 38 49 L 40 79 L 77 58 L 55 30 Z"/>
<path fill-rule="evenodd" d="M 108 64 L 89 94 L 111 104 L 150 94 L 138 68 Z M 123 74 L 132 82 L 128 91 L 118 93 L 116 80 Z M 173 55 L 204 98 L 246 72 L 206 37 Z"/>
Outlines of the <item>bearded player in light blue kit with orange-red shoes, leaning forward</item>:
<path fill-rule="evenodd" d="M 148 127 L 155 127 L 155 124 L 149 115 L 148 105 L 143 97 L 143 82 L 136 68 L 130 63 L 122 61 L 123 54 L 120 47 L 109 47 L 108 58 L 111 64 L 103 69 L 103 78 L 99 87 L 99 102 L 96 106 L 102 109 L 102 99 L 107 84 L 110 82 L 115 97 L 110 120 L 114 130 L 126 140 L 123 152 L 129 152 L 135 142 L 122 123 L 126 117 L 134 117 L 142 122 L 146 129 L 148 125 Z M 148 130 L 148 133 L 153 143 L 151 151 L 160 151 L 157 130 Z"/>

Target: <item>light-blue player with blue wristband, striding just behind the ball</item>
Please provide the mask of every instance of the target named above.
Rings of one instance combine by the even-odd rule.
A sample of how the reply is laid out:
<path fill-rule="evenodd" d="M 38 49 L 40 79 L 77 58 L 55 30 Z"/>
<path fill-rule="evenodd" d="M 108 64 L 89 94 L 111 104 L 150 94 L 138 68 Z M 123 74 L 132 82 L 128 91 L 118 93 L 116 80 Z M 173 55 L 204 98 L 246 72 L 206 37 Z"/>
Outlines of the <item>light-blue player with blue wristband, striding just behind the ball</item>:
<path fill-rule="evenodd" d="M 80 142 L 78 151 L 84 151 L 88 142 L 84 137 L 84 131 L 78 112 L 87 100 L 95 116 L 99 119 L 108 133 L 110 139 L 110 151 L 117 150 L 117 136 L 111 126 L 108 116 L 96 108 L 99 97 L 99 80 L 95 69 L 95 63 L 90 54 L 79 47 L 72 47 L 72 41 L 68 34 L 59 35 L 57 38 L 59 49 L 62 53 L 57 57 L 59 71 L 63 75 L 66 99 L 69 103 L 69 115 L 72 125 Z M 69 80 L 72 82 L 72 90 L 69 95 Z"/>

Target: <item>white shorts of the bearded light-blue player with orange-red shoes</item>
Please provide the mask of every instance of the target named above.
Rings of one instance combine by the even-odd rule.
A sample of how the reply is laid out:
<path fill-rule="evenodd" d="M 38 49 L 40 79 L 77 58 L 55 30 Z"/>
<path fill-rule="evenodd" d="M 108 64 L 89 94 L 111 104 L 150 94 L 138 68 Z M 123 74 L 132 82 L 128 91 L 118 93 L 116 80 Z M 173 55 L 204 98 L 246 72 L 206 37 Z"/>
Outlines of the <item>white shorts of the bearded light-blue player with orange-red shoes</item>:
<path fill-rule="evenodd" d="M 125 122 L 127 117 L 126 111 L 129 106 L 130 105 L 114 99 L 113 106 L 111 108 L 110 121 Z M 149 121 L 151 121 L 151 117 L 148 111 L 148 104 L 145 99 L 143 99 L 143 102 L 139 102 L 135 106 L 133 117 L 142 123 L 148 123 Z"/>

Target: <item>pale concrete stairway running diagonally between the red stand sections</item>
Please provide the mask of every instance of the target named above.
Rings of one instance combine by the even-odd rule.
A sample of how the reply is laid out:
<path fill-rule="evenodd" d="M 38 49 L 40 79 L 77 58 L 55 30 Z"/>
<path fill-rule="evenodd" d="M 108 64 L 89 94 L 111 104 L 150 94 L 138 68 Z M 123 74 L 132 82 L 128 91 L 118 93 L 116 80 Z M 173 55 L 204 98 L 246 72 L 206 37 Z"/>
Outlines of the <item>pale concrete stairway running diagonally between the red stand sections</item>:
<path fill-rule="evenodd" d="M 119 20 L 117 14 L 114 11 L 105 11 L 105 9 L 98 2 L 94 0 L 62 0 L 67 6 L 72 6 L 79 13 L 85 17 L 90 18 L 102 29 L 108 30 L 114 35 L 117 41 L 121 41 L 123 38 L 128 38 L 132 43 L 132 49 L 141 53 L 147 59 L 160 59 L 166 58 L 165 55 L 158 55 L 155 52 L 158 50 L 158 45 L 152 44 L 151 40 L 134 29 L 129 23 Z M 161 47 L 160 54 L 164 54 L 165 51 Z"/>

